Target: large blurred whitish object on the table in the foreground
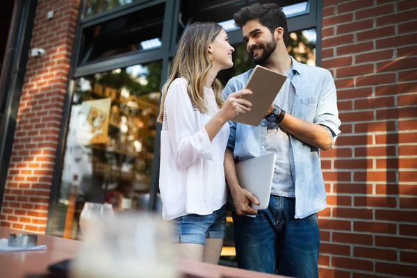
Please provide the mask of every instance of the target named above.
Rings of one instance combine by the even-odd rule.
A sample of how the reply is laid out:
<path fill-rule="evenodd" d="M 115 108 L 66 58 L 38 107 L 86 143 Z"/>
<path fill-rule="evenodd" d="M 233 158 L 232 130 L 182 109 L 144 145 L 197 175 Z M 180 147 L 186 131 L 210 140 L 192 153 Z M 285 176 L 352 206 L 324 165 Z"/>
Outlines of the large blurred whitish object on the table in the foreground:
<path fill-rule="evenodd" d="M 92 218 L 72 278 L 180 277 L 170 225 L 150 213 Z"/>

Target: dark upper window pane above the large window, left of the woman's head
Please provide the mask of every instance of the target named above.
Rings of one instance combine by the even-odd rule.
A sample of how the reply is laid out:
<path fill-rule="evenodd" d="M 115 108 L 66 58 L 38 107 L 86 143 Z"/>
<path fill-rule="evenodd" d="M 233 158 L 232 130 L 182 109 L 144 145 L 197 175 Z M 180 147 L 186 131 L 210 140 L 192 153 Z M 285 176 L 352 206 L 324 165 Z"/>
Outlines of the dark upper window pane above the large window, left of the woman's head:
<path fill-rule="evenodd" d="M 165 3 L 138 10 L 83 30 L 81 65 L 162 46 Z"/>

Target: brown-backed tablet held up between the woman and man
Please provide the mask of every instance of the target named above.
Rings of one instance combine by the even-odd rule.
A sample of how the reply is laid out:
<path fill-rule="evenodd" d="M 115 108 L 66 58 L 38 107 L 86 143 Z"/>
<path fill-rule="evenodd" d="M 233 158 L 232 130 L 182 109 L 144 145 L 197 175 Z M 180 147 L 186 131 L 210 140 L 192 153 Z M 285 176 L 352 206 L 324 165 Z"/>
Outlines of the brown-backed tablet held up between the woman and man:
<path fill-rule="evenodd" d="M 252 95 L 244 97 L 252 103 L 251 111 L 240 113 L 234 117 L 233 121 L 259 126 L 285 81 L 285 75 L 256 65 L 245 86 L 245 89 L 253 92 Z"/>

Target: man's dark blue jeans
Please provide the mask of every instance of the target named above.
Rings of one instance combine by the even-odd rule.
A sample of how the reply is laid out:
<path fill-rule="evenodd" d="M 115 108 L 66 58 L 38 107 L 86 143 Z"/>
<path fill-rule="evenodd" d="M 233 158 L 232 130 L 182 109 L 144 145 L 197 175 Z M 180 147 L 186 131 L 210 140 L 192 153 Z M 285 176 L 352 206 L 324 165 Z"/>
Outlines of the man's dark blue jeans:
<path fill-rule="evenodd" d="M 256 218 L 233 213 L 239 268 L 291 277 L 318 277 L 317 214 L 295 219 L 295 198 L 273 196 Z"/>

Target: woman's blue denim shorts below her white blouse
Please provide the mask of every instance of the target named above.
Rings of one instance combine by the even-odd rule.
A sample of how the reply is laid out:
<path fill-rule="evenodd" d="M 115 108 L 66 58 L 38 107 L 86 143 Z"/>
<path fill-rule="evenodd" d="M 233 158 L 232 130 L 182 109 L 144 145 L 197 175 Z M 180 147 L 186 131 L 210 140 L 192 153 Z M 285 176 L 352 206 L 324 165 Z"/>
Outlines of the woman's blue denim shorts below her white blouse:
<path fill-rule="evenodd" d="M 226 205 L 208 215 L 188 214 L 171 220 L 174 243 L 206 244 L 226 235 Z"/>

